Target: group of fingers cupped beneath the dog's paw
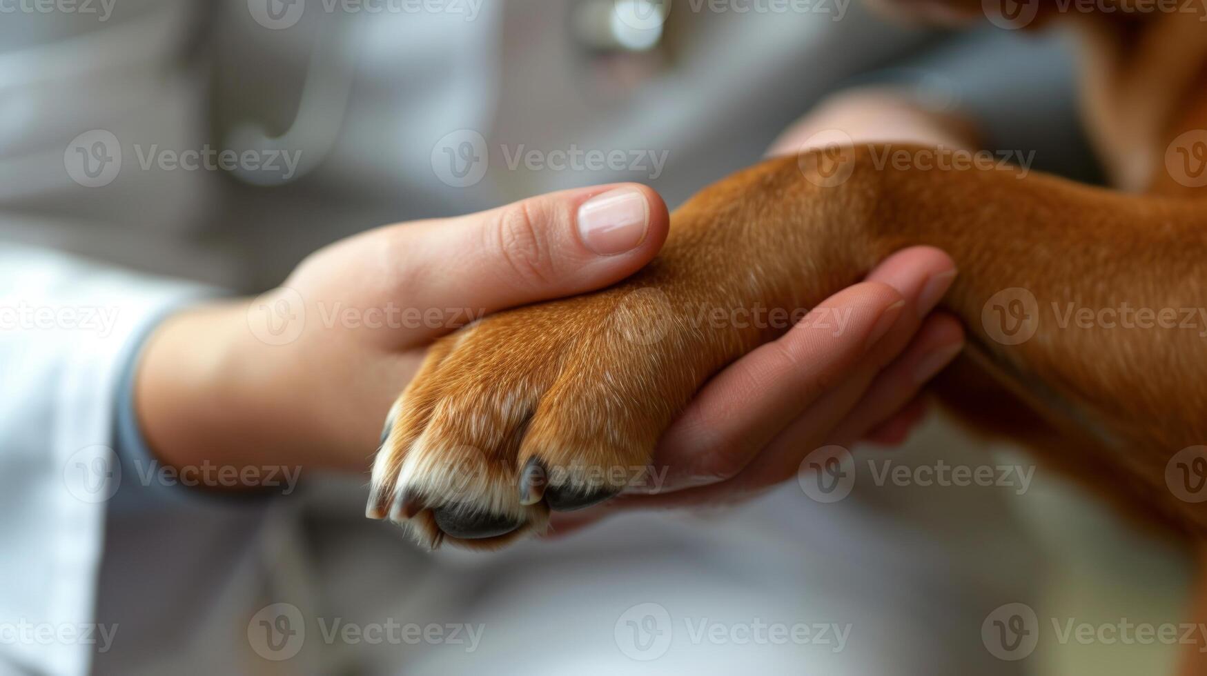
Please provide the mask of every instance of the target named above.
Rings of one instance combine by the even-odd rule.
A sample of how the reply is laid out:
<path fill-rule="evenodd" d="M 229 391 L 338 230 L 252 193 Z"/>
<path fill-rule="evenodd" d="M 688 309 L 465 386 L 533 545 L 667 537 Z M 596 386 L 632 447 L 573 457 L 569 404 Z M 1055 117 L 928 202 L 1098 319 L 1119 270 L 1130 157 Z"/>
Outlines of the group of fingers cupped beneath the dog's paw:
<path fill-rule="evenodd" d="M 899 305 L 885 324 L 835 332 L 833 321 L 801 321 L 737 360 L 663 436 L 652 462 L 657 482 L 600 507 L 558 514 L 554 531 L 618 509 L 748 499 L 795 477 L 817 448 L 850 448 L 867 438 L 899 443 L 923 410 L 920 389 L 963 346 L 960 322 L 931 313 L 955 276 L 954 263 L 937 249 L 888 257 L 865 281 L 820 305 L 830 317 L 869 309 L 877 316 Z"/>

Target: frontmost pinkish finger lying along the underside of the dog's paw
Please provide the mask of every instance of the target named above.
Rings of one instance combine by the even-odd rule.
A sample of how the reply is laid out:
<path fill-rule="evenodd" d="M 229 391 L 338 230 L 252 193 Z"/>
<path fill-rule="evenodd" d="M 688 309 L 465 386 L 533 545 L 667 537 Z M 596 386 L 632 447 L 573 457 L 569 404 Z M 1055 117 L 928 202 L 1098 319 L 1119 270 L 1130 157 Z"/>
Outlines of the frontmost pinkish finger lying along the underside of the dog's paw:
<path fill-rule="evenodd" d="M 666 477 L 657 490 L 740 472 L 776 431 L 864 359 L 904 307 L 885 284 L 857 284 L 722 371 L 664 435 L 654 466 L 665 467 Z"/>

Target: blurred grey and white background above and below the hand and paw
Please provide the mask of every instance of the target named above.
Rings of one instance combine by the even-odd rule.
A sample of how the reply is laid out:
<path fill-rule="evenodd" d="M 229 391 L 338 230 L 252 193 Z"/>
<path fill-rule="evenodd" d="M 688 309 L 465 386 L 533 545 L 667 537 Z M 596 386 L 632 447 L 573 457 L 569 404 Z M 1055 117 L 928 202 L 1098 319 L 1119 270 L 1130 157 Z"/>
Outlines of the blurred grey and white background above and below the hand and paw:
<path fill-rule="evenodd" d="M 827 94 L 868 84 L 970 116 L 986 147 L 1033 151 L 1037 170 L 1097 181 L 1073 47 L 1060 30 L 910 28 L 857 0 L 0 1 L 0 245 L 256 293 L 384 223 L 611 181 L 674 208 Z M 256 162 L 170 161 L 222 150 Z M 791 484 L 490 555 L 424 553 L 366 521 L 362 477 L 252 505 L 123 485 L 89 620 L 119 629 L 68 662 L 123 675 L 1173 668 L 1176 646 L 1062 634 L 1182 622 L 1189 564 L 1171 544 L 941 416 L 851 462 L 838 501 Z M 884 482 L 885 464 L 909 478 Z M 944 465 L 1007 477 L 923 480 Z M 11 599 L 0 622 L 24 619 Z M 1037 641 L 995 645 L 1015 604 Z M 395 624 L 441 630 L 390 640 Z M 0 672 L 58 672 L 45 651 L 0 636 Z"/>

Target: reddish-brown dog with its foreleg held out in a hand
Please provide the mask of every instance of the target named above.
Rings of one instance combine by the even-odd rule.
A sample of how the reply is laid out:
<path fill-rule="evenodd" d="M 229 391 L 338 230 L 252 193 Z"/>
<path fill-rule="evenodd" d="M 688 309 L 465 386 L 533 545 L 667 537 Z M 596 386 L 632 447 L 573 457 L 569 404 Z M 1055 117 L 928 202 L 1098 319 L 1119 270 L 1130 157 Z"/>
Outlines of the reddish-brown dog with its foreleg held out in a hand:
<path fill-rule="evenodd" d="M 1022 7 L 1037 23 L 1083 30 L 1086 126 L 1129 192 L 949 167 L 935 148 L 892 144 L 835 144 L 735 174 L 675 211 L 660 256 L 624 284 L 441 340 L 392 409 L 369 515 L 430 546 L 496 547 L 543 529 L 550 509 L 604 500 L 631 472 L 601 470 L 647 465 L 701 384 L 777 334 L 702 328 L 693 308 L 814 308 L 888 253 L 928 244 L 960 267 L 943 307 L 969 336 L 934 385 L 940 397 L 1130 513 L 1202 534 L 1207 507 L 1171 489 L 1171 459 L 1207 443 L 1207 326 L 1197 314 L 1186 325 L 1207 308 L 1207 202 L 1196 197 L 1207 24 L 1184 5 L 1085 13 L 1036 1 Z M 1172 313 L 1174 326 L 1067 314 L 1129 307 Z M 1191 465 L 1183 478 L 1201 480 Z"/>

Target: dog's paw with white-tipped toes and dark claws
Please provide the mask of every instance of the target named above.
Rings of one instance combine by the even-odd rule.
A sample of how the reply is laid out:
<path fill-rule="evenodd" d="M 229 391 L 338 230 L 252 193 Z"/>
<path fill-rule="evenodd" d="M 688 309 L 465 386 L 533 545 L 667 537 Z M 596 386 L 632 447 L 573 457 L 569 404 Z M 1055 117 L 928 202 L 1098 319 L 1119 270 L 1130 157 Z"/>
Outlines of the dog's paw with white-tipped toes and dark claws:
<path fill-rule="evenodd" d="M 489 548 L 648 480 L 707 375 L 706 340 L 683 326 L 664 291 L 617 287 L 441 339 L 391 409 L 367 515 L 428 547 Z"/>

